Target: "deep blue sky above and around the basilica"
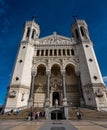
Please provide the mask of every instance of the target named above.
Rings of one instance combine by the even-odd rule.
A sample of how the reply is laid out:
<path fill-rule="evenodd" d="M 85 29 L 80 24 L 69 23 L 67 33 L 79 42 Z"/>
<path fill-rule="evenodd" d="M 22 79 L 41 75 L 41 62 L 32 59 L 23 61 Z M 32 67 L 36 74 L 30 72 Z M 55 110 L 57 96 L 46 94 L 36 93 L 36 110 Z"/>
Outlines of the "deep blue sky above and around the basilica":
<path fill-rule="evenodd" d="M 36 15 L 40 37 L 53 32 L 71 37 L 73 15 L 84 19 L 107 85 L 107 1 L 106 0 L 0 0 L 0 104 L 3 104 L 12 74 L 22 28 Z"/>

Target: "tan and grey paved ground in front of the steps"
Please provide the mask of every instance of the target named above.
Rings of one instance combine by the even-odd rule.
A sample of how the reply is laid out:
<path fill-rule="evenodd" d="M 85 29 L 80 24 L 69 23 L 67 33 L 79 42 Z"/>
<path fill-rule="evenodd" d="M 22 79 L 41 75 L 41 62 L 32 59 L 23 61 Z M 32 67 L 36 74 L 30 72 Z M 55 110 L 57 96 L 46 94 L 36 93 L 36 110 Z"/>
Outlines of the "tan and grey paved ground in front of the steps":
<path fill-rule="evenodd" d="M 107 130 L 107 120 L 0 120 L 0 130 Z"/>

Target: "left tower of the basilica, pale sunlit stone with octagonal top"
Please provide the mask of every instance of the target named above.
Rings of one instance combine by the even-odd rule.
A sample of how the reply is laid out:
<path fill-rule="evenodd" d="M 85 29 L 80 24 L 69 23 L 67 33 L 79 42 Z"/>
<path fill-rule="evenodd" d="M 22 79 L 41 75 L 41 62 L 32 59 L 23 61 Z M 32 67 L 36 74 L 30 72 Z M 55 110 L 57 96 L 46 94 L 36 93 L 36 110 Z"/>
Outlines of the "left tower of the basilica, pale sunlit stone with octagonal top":
<path fill-rule="evenodd" d="M 9 84 L 5 103 L 5 112 L 15 108 L 26 108 L 28 105 L 32 74 L 32 59 L 34 54 L 34 41 L 40 34 L 39 25 L 33 19 L 24 25 L 23 36 Z"/>

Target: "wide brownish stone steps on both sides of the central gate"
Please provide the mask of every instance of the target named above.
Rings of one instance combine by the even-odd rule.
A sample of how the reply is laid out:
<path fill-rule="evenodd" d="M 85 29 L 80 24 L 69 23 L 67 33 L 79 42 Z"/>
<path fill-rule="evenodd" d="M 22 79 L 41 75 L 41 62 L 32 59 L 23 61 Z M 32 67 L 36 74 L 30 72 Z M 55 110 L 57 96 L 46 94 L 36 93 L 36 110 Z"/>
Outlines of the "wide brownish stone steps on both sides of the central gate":
<path fill-rule="evenodd" d="M 51 108 L 51 111 L 54 110 L 54 108 Z M 58 109 L 59 110 L 59 109 Z M 33 112 L 44 112 L 44 108 L 34 108 Z M 88 108 L 76 108 L 76 107 L 70 107 L 68 109 L 68 119 L 70 120 L 77 120 L 76 113 L 77 111 L 80 111 L 81 118 L 83 120 L 107 120 L 107 112 L 99 112 L 97 110 L 92 110 Z M 20 110 L 19 114 L 16 115 L 14 112 L 11 115 L 8 115 L 8 113 L 5 113 L 4 115 L 0 115 L 0 119 L 27 119 L 28 113 L 30 112 L 30 109 Z"/>

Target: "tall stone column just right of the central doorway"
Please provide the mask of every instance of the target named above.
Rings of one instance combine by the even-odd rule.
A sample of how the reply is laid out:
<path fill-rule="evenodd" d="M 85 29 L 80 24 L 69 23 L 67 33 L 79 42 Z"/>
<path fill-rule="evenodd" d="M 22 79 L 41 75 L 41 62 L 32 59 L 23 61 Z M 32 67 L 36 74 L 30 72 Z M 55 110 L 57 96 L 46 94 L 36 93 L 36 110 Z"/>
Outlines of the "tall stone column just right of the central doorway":
<path fill-rule="evenodd" d="M 65 70 L 61 70 L 62 74 L 62 87 L 63 87 L 63 107 L 64 107 L 64 118 L 68 118 L 68 103 L 66 97 L 66 86 L 65 86 Z"/>

